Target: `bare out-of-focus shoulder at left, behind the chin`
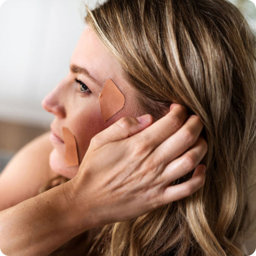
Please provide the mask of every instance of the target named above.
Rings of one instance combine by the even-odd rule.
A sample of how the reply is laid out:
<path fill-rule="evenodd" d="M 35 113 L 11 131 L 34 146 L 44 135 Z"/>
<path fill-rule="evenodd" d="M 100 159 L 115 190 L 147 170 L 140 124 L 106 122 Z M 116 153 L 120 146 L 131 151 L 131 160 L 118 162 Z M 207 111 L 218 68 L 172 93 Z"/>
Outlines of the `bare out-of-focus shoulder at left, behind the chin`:
<path fill-rule="evenodd" d="M 37 195 L 38 189 L 56 176 L 49 166 L 53 147 L 49 133 L 37 137 L 11 159 L 0 174 L 0 210 Z"/>

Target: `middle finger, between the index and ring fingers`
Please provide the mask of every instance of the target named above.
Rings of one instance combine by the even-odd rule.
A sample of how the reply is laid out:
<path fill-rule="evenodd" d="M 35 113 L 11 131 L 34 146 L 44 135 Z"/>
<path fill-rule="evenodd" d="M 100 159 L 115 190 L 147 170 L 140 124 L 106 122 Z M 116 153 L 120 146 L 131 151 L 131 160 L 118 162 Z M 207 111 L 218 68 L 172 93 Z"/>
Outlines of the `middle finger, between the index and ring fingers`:
<path fill-rule="evenodd" d="M 202 128 L 203 124 L 199 117 L 195 115 L 190 116 L 182 128 L 155 149 L 153 158 L 158 159 L 160 161 L 158 163 L 167 165 L 167 163 L 183 154 L 183 152 L 195 144 Z"/>

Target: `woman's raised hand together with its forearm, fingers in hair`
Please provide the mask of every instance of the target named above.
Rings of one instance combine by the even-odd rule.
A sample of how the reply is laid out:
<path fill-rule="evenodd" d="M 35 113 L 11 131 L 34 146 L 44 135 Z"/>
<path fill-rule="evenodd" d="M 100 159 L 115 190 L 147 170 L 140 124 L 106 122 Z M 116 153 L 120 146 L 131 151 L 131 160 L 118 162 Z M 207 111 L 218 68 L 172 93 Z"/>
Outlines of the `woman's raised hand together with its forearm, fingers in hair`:
<path fill-rule="evenodd" d="M 200 189 L 203 125 L 181 105 L 170 110 L 154 124 L 150 115 L 120 119 L 93 137 L 72 180 L 0 211 L 2 252 L 48 255 L 86 230 L 135 218 Z M 194 168 L 190 180 L 172 185 Z"/>

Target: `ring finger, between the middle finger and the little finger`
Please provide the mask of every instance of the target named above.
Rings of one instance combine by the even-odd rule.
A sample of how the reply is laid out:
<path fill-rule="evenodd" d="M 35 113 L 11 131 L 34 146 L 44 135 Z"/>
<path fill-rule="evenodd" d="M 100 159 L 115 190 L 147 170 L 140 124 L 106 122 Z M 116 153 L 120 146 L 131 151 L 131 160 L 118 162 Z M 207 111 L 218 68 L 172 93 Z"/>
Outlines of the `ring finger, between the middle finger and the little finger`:
<path fill-rule="evenodd" d="M 188 174 L 199 165 L 206 152 L 207 143 L 203 137 L 199 137 L 191 149 L 165 167 L 160 181 L 170 184 L 176 179 Z"/>

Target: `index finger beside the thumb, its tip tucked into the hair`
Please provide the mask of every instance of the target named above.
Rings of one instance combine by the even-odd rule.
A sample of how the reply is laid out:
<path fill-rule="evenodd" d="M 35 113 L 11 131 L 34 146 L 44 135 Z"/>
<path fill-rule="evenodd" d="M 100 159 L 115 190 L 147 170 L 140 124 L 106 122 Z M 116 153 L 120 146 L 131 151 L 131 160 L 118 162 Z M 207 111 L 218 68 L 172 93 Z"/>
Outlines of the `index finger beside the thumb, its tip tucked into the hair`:
<path fill-rule="evenodd" d="M 143 140 L 147 146 L 155 148 L 173 135 L 183 126 L 188 113 L 186 108 L 180 104 L 172 104 L 170 109 L 168 114 L 138 134 L 135 139 Z"/>

